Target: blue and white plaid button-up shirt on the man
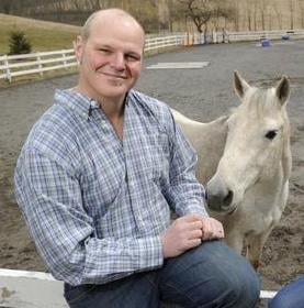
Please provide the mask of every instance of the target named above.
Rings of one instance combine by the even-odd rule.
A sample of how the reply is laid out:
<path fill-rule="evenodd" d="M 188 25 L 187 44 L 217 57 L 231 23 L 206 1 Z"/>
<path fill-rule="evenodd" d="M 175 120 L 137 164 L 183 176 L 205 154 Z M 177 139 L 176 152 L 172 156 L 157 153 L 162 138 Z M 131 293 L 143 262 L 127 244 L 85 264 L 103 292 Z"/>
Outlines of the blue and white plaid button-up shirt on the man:
<path fill-rule="evenodd" d="M 103 284 L 158 268 L 160 233 L 204 209 L 196 155 L 169 108 L 130 91 L 124 138 L 92 99 L 56 91 L 15 168 L 15 196 L 53 275 Z"/>

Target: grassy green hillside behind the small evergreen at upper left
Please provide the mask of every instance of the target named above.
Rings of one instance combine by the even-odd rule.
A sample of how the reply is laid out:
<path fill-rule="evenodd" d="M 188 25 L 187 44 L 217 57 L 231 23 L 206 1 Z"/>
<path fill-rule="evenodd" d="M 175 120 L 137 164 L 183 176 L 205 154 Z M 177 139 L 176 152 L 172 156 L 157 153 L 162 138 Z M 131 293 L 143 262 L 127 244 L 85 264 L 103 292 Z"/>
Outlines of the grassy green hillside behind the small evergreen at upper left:
<path fill-rule="evenodd" d="M 9 34 L 13 30 L 25 32 L 33 52 L 71 48 L 79 33 L 75 25 L 0 14 L 0 54 L 9 52 Z"/>

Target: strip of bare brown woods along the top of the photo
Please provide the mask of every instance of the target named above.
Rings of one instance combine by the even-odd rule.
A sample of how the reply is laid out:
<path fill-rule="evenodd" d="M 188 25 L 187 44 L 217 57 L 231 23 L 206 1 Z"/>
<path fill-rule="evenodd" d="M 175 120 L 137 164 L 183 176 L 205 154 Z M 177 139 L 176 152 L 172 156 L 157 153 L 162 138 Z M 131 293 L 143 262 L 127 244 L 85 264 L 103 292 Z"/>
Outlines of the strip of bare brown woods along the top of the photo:
<path fill-rule="evenodd" d="M 110 7 L 134 14 L 148 30 L 205 32 L 227 25 L 248 29 L 304 28 L 304 0 L 0 0 L 0 12 L 80 24 L 93 11 Z M 284 24 L 284 10 L 289 15 Z"/>

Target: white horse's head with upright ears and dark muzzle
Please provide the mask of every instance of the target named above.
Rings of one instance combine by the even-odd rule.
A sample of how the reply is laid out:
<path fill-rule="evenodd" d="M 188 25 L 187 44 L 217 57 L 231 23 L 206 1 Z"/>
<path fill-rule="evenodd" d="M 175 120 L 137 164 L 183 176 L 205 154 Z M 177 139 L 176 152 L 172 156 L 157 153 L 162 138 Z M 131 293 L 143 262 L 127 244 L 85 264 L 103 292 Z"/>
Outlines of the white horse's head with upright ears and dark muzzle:
<path fill-rule="evenodd" d="M 290 151 L 284 150 L 289 143 L 289 79 L 283 76 L 277 87 L 262 89 L 249 86 L 237 72 L 234 77 L 241 105 L 227 120 L 224 154 L 206 187 L 210 210 L 222 213 L 233 213 L 255 185 L 271 185 L 279 173 L 290 172 L 290 165 L 282 162 L 284 151 Z"/>

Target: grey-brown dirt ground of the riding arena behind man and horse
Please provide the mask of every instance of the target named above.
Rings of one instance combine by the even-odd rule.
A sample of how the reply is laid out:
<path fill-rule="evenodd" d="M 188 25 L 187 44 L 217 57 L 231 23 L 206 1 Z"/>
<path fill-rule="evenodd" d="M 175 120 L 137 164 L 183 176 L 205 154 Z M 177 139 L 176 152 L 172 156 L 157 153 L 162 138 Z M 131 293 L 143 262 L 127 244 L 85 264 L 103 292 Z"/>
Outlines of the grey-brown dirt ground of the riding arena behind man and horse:
<path fill-rule="evenodd" d="M 203 69 L 146 69 L 159 62 L 210 62 Z M 149 57 L 137 88 L 185 116 L 209 121 L 238 103 L 232 76 L 238 69 L 259 85 L 286 74 L 292 84 L 289 114 L 293 169 L 289 205 L 267 241 L 259 273 L 263 288 L 278 289 L 304 272 L 304 42 L 191 47 Z M 55 88 L 74 86 L 76 76 L 0 89 L 0 267 L 47 271 L 31 240 L 13 196 L 13 169 L 30 128 L 52 105 Z"/>

